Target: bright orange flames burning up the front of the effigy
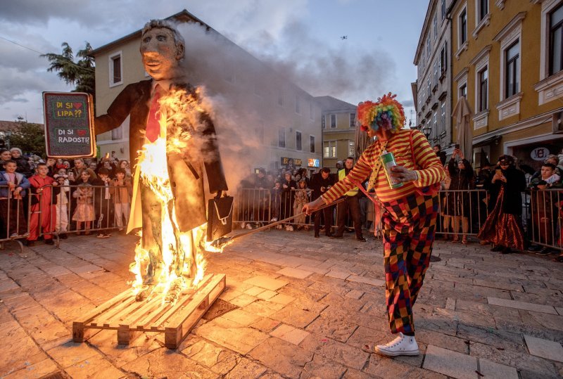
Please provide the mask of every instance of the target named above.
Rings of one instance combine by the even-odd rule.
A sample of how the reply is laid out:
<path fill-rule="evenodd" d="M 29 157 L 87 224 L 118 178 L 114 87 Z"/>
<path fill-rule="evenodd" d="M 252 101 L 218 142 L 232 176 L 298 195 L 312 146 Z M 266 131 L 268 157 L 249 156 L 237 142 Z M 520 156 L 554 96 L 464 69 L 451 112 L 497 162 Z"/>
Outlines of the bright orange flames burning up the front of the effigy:
<path fill-rule="evenodd" d="M 181 232 L 177 224 L 174 195 L 170 187 L 167 154 L 184 153 L 189 139 L 196 138 L 196 129 L 203 111 L 198 102 L 199 89 L 192 96 L 184 89 L 171 89 L 162 96 L 160 103 L 160 129 L 167 136 L 159 136 L 153 143 L 147 142 L 139 151 L 137 169 L 139 181 L 148 186 L 160 203 L 159 241 L 151 246 L 142 245 L 142 235 L 135 247 L 135 260 L 129 265 L 134 274 L 134 295 L 148 290 L 146 297 L 162 295 L 163 302 L 177 300 L 170 292 L 196 286 L 205 274 L 203 250 L 221 252 L 205 240 L 203 224 L 187 232 Z M 154 231 L 154 229 L 153 229 Z M 151 283 L 146 273 L 154 270 Z"/>

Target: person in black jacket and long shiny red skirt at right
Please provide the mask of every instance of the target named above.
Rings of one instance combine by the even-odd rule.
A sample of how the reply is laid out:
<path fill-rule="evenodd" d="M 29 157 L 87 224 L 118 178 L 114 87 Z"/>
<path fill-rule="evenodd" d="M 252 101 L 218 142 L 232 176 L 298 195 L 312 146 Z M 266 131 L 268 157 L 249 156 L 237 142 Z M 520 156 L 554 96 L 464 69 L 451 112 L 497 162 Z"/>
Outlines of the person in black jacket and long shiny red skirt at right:
<path fill-rule="evenodd" d="M 511 246 L 524 250 L 521 192 L 525 189 L 524 172 L 514 167 L 512 156 L 501 155 L 491 179 L 490 213 L 477 235 L 480 240 L 495 245 L 491 251 L 508 254 L 512 252 Z"/>

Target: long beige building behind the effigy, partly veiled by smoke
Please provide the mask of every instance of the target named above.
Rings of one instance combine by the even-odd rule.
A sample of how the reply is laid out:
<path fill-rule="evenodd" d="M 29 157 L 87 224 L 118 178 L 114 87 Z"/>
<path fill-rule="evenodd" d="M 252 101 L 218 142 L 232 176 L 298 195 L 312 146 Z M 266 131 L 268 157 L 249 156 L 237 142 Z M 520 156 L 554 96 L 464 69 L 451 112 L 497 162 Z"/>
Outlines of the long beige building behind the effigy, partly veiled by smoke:
<path fill-rule="evenodd" d="M 216 104 L 214 121 L 222 156 L 229 149 L 227 157 L 240 160 L 238 167 L 245 171 L 275 170 L 290 160 L 297 168 L 320 165 L 321 111 L 310 94 L 191 13 L 184 10 L 169 19 L 179 24 L 186 40 L 189 82 L 205 86 L 205 94 Z M 137 30 L 93 51 L 96 115 L 106 113 L 127 84 L 150 79 L 141 61 L 140 41 L 141 30 Z M 101 154 L 115 151 L 120 158 L 129 157 L 128 131 L 127 119 L 118 129 L 99 135 Z"/>

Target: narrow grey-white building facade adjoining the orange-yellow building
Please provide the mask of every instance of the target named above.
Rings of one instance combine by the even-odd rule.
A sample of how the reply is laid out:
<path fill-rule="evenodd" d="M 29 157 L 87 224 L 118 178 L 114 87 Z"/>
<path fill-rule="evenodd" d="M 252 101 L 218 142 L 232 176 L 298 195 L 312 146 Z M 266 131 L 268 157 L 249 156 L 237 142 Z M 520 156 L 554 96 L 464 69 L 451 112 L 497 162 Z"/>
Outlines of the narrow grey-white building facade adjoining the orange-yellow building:
<path fill-rule="evenodd" d="M 417 81 L 412 83 L 417 129 L 446 151 L 452 143 L 451 1 L 429 1 L 415 53 Z"/>

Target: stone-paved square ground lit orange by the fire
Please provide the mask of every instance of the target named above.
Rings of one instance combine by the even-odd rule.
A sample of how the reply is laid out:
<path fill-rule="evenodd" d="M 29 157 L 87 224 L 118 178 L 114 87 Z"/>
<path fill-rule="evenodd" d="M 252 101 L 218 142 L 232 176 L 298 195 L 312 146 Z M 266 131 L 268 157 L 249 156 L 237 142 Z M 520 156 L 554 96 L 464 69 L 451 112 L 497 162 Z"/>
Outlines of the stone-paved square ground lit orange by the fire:
<path fill-rule="evenodd" d="M 176 351 L 115 331 L 72 342 L 72 321 L 127 289 L 137 237 L 71 236 L 0 251 L 0 377 L 560 378 L 563 264 L 437 241 L 415 305 L 421 354 L 384 358 L 381 242 L 267 231 L 208 255 L 238 308 L 201 320 Z"/>

